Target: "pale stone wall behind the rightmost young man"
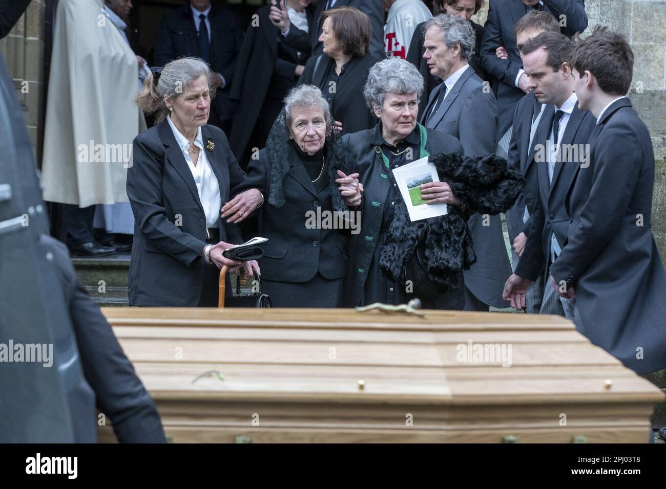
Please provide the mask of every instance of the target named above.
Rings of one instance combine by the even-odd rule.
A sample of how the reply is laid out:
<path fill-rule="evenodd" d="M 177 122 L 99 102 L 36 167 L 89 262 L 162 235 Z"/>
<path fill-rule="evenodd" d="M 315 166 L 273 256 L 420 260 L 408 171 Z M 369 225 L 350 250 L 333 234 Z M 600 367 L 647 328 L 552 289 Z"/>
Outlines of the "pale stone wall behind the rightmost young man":
<path fill-rule="evenodd" d="M 666 261 L 666 1 L 587 0 L 585 11 L 589 23 L 583 36 L 595 25 L 606 25 L 627 37 L 633 49 L 629 97 L 650 131 L 655 150 L 652 230 Z M 487 15 L 488 4 L 473 19 L 483 24 Z"/>

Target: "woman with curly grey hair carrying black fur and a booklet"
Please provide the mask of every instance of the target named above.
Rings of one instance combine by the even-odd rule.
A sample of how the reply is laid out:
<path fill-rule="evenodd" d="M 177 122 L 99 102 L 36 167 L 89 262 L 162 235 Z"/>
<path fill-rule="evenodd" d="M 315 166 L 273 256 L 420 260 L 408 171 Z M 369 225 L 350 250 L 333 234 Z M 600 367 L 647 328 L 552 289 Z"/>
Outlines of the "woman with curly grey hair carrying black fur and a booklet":
<path fill-rule="evenodd" d="M 522 178 L 502 158 L 465 158 L 454 136 L 418 124 L 423 83 L 403 59 L 376 63 L 364 96 L 380 120 L 340 140 L 364 189 L 360 233 L 350 242 L 345 306 L 418 298 L 424 308 L 462 310 L 462 270 L 476 260 L 467 220 L 474 212 L 503 212 L 522 188 Z M 423 199 L 448 204 L 448 214 L 412 222 L 392 170 L 424 157 L 440 182 L 423 184 Z"/>

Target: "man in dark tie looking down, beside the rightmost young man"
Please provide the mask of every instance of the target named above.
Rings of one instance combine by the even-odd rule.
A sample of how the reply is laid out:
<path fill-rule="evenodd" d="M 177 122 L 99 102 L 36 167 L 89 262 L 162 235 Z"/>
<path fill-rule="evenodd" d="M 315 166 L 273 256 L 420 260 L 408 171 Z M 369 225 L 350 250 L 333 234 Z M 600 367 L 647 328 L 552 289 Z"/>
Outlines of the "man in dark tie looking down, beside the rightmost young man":
<path fill-rule="evenodd" d="M 577 164 L 589 162 L 587 140 L 596 124 L 592 113 L 578 106 L 570 54 L 571 41 L 559 33 L 542 33 L 522 48 L 529 87 L 537 100 L 547 105 L 529 150 L 537 192 L 529 219 L 529 239 L 515 273 L 529 277 L 534 281 L 532 287 L 543 291 L 541 313 L 559 315 L 570 311 L 569 299 L 558 297 L 549 283 L 544 289 L 543 277 L 549 276 L 548 265 L 566 244 L 571 218 L 565 198 L 573 186 Z M 573 316 L 568 317 L 573 320 Z"/>

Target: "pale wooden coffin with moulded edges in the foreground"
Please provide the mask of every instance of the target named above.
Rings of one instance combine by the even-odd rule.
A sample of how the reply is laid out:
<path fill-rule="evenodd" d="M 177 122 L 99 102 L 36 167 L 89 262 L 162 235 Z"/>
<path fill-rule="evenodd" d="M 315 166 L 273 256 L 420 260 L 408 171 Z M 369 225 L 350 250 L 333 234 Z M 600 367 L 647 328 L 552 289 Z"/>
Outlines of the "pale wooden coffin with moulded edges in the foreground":
<path fill-rule="evenodd" d="M 664 397 L 557 316 L 103 313 L 173 442 L 648 442 Z"/>

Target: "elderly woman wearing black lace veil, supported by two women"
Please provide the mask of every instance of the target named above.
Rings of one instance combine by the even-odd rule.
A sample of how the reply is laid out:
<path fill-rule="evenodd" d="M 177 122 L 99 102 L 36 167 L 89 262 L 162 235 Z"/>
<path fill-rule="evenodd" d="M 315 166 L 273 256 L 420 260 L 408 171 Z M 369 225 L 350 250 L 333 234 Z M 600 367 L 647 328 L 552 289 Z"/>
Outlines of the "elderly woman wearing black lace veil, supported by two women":
<path fill-rule="evenodd" d="M 268 238 L 259 263 L 262 293 L 275 307 L 340 305 L 345 246 L 358 232 L 362 188 L 333 129 L 320 89 L 292 88 L 266 148 L 248 165 L 244 185 L 268 196 L 258 212 L 258 236 Z"/>

